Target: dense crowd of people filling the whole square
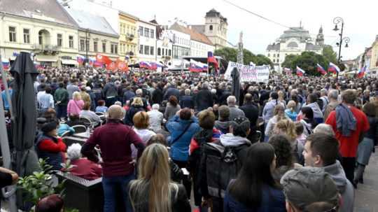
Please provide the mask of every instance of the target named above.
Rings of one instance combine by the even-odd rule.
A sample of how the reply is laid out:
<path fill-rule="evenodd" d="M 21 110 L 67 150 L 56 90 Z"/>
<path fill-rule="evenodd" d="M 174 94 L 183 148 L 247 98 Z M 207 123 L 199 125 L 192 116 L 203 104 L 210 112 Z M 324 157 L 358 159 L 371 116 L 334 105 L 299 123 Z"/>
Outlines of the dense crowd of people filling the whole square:
<path fill-rule="evenodd" d="M 377 78 L 272 74 L 233 87 L 186 72 L 43 69 L 38 157 L 102 177 L 106 212 L 118 188 L 136 212 L 353 211 L 378 142 Z M 60 136 L 83 118 L 89 139 L 67 147 Z"/>

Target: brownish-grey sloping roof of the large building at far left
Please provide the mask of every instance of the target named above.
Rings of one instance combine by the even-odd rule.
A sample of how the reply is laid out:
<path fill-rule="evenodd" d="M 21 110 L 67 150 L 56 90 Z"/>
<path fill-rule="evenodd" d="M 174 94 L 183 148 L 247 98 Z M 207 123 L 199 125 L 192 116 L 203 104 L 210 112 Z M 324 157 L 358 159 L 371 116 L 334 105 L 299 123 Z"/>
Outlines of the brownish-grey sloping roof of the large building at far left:
<path fill-rule="evenodd" d="M 77 27 L 56 0 L 1 0 L 0 12 Z"/>

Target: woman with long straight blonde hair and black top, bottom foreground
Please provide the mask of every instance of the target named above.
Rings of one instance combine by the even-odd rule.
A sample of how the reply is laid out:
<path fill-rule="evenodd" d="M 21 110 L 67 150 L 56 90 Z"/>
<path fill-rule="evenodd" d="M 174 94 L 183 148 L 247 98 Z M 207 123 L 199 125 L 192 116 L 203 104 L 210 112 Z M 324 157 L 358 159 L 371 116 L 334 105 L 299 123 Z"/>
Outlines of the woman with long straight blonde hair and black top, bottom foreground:
<path fill-rule="evenodd" d="M 159 143 L 148 146 L 138 168 L 138 179 L 129 184 L 129 201 L 134 212 L 190 212 L 185 188 L 171 181 L 165 146 Z"/>

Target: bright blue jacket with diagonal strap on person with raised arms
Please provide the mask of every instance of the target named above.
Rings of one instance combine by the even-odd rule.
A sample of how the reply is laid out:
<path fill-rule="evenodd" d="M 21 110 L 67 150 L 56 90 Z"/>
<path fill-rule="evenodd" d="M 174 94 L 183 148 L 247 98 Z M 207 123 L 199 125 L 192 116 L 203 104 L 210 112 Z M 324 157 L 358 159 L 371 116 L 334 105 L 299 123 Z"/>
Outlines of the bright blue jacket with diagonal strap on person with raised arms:
<path fill-rule="evenodd" d="M 190 125 L 188 130 L 179 138 L 179 140 L 171 145 L 172 141 L 180 136 L 188 125 Z M 169 145 L 171 145 L 171 158 L 173 160 L 188 161 L 190 141 L 194 134 L 201 130 L 200 125 L 198 125 L 198 119 L 193 117 L 190 120 L 181 120 L 179 115 L 174 115 L 174 117 L 167 122 L 166 127 L 171 134 L 171 138 L 169 139 Z"/>

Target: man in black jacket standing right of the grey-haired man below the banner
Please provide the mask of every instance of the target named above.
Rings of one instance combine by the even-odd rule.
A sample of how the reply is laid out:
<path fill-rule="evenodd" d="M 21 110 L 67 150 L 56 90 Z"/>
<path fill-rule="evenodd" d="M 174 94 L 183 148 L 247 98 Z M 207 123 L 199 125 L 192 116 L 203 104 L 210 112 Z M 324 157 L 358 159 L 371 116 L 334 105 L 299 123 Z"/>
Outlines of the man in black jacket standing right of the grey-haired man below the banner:
<path fill-rule="evenodd" d="M 251 122 L 251 132 L 248 134 L 247 139 L 253 142 L 256 133 L 256 122 L 258 120 L 258 107 L 253 104 L 252 94 L 246 94 L 244 97 L 244 105 L 239 107 L 244 112 L 246 118 Z"/>

